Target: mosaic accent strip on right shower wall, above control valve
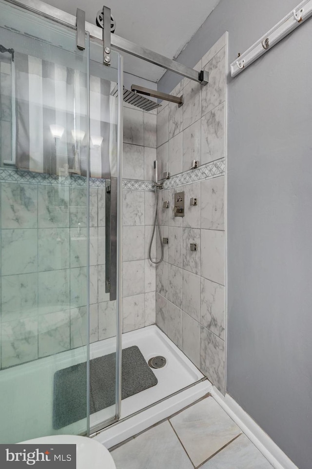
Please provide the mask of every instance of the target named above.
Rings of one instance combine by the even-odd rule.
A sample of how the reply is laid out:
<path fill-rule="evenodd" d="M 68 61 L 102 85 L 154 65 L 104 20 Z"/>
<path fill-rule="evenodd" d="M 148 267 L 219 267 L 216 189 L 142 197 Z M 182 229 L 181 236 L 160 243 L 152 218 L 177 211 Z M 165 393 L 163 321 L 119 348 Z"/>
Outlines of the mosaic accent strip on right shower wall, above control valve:
<path fill-rule="evenodd" d="M 184 173 L 170 177 L 164 181 L 164 189 L 176 186 L 185 186 L 202 179 L 209 179 L 215 176 L 222 176 L 225 173 L 225 159 L 217 159 L 211 163 L 199 166 L 199 168 L 185 171 Z"/>

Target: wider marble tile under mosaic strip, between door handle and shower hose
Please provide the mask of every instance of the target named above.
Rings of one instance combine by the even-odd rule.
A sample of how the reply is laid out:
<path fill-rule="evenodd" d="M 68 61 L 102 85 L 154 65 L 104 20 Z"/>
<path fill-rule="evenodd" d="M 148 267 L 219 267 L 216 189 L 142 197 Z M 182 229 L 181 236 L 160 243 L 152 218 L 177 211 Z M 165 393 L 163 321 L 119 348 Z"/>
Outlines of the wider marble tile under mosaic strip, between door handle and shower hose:
<path fill-rule="evenodd" d="M 123 226 L 144 225 L 144 192 L 122 191 Z"/>

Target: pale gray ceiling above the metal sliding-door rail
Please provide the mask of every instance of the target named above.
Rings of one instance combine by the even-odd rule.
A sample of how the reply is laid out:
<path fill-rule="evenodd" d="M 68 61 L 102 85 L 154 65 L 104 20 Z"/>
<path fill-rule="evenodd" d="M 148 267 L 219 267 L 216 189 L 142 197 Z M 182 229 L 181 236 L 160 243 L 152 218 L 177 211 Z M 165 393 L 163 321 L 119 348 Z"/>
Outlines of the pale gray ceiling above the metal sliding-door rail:
<path fill-rule="evenodd" d="M 103 0 L 45 0 L 76 15 L 86 12 L 86 21 L 96 22 Z M 116 20 L 116 34 L 144 45 L 170 59 L 178 56 L 220 0 L 104 0 Z M 124 55 L 124 71 L 157 82 L 165 70 Z"/>

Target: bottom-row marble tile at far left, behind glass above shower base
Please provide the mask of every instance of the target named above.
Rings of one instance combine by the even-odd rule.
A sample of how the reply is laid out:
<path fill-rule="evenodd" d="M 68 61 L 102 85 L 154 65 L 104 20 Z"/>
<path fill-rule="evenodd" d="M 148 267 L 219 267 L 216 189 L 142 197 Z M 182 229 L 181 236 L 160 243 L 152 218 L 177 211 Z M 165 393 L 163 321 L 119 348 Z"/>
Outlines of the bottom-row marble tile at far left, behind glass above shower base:
<path fill-rule="evenodd" d="M 1 367 L 38 358 L 38 319 L 31 317 L 1 325 Z"/>

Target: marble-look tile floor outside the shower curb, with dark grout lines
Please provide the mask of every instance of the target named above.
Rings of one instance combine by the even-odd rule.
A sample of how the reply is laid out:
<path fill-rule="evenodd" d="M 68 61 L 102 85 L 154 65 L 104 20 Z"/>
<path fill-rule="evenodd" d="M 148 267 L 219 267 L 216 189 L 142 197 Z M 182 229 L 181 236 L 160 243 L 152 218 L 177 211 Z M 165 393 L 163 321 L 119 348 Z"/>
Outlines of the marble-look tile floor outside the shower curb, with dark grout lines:
<path fill-rule="evenodd" d="M 273 469 L 213 397 L 112 451 L 117 469 Z"/>

